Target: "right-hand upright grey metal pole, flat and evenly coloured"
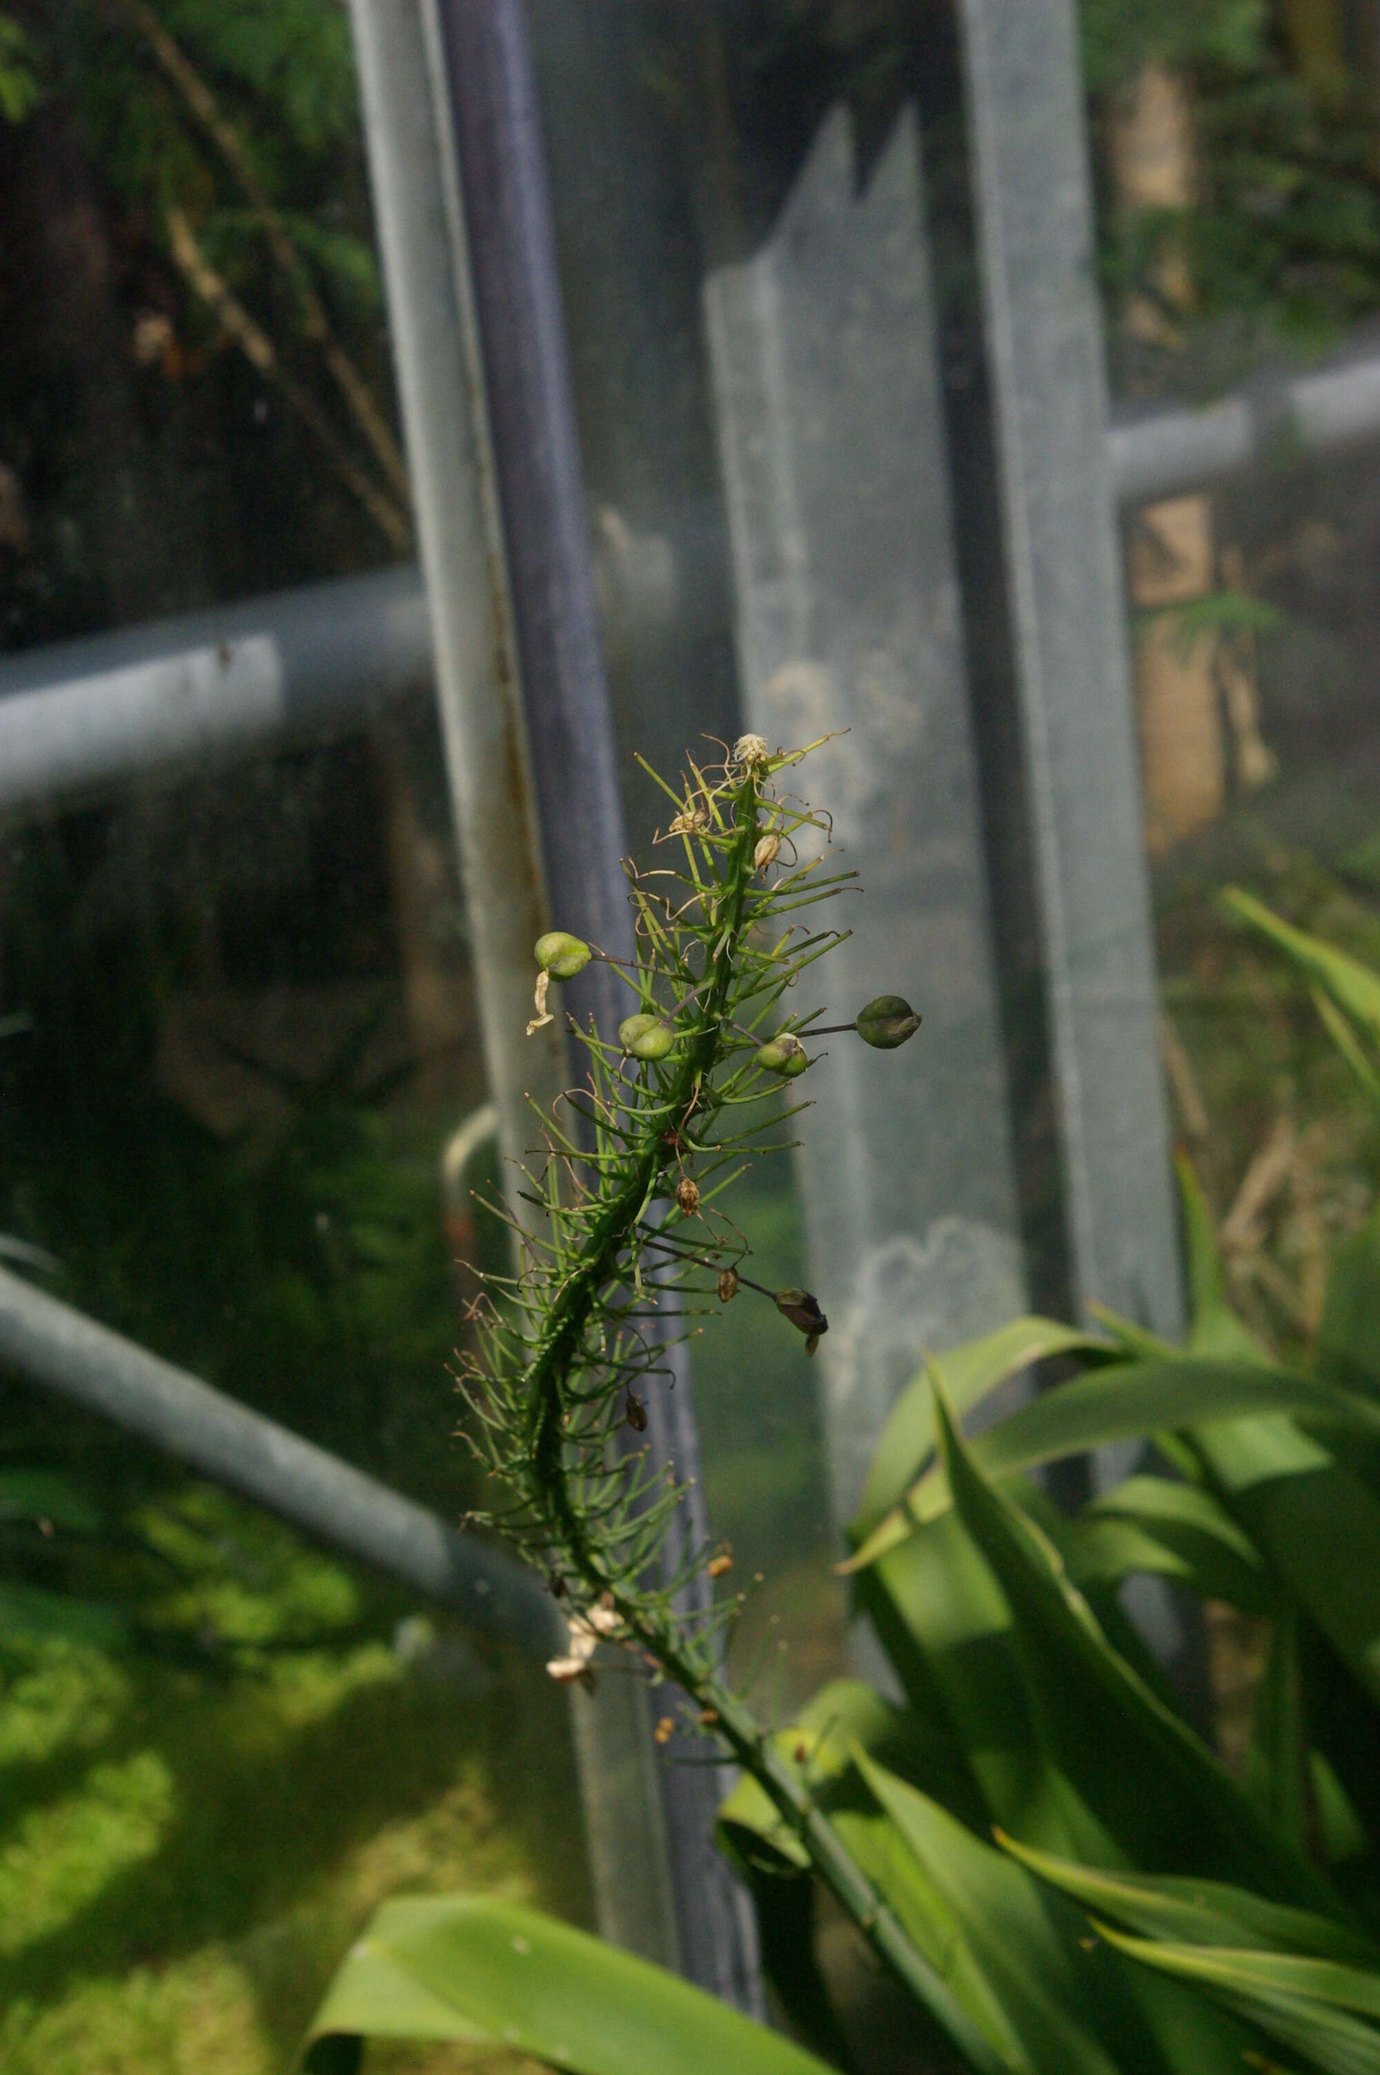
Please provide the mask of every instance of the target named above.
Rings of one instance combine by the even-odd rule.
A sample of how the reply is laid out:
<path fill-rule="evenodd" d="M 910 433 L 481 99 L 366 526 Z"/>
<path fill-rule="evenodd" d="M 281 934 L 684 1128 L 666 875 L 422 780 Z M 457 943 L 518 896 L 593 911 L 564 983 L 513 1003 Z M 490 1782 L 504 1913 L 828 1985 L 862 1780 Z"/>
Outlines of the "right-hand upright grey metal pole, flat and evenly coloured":
<path fill-rule="evenodd" d="M 1183 1324 L 1071 0 L 963 0 L 1075 1297 Z"/>

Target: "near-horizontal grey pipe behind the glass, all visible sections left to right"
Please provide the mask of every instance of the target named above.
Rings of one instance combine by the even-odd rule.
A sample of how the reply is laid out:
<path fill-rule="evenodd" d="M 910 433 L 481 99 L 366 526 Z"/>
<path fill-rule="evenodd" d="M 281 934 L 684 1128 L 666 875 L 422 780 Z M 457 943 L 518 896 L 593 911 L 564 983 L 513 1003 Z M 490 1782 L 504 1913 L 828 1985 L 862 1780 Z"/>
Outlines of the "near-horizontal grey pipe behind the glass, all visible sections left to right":
<path fill-rule="evenodd" d="M 1380 353 L 1353 351 L 1202 409 L 1112 423 L 1110 498 L 1146 504 L 1378 434 Z M 679 593 L 666 571 L 693 556 L 693 537 L 629 535 L 618 562 L 606 550 L 598 577 L 625 635 L 662 625 Z M 129 778 L 205 770 L 347 730 L 432 674 L 427 600 L 413 564 L 23 649 L 0 658 L 0 815 L 12 822 Z"/>

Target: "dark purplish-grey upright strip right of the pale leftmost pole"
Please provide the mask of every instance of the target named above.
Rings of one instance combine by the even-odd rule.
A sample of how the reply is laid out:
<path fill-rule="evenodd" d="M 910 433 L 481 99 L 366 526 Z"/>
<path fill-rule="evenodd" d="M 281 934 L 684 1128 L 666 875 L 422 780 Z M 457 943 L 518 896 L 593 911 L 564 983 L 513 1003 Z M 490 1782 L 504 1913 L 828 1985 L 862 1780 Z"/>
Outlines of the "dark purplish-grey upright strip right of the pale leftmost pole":
<path fill-rule="evenodd" d="M 627 957 L 623 801 L 527 23 L 521 0 L 438 0 L 436 23 L 550 898 L 562 928 Z M 614 1027 L 623 1002 L 610 967 L 587 967 L 569 1006 Z M 699 1542 L 708 1529 L 683 1359 L 650 1415 L 654 1461 L 674 1463 L 691 1488 L 679 1542 Z M 687 1587 L 689 1598 L 706 1592 L 703 1579 Z M 726 1776 L 670 1764 L 658 1778 L 683 1971 L 762 2011 L 751 1903 L 712 1843 Z"/>

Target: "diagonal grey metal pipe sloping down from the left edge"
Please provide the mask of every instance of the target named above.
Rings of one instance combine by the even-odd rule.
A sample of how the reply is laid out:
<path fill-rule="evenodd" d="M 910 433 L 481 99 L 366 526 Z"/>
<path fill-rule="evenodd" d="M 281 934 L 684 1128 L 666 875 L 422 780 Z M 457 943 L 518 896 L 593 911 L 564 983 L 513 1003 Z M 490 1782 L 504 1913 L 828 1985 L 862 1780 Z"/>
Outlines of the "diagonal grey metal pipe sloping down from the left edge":
<path fill-rule="evenodd" d="M 564 1648 L 564 1623 L 550 1594 L 502 1550 L 463 1536 L 425 1506 L 4 1268 L 0 1361 L 342 1554 L 454 1606 L 486 1635 L 537 1658 Z"/>

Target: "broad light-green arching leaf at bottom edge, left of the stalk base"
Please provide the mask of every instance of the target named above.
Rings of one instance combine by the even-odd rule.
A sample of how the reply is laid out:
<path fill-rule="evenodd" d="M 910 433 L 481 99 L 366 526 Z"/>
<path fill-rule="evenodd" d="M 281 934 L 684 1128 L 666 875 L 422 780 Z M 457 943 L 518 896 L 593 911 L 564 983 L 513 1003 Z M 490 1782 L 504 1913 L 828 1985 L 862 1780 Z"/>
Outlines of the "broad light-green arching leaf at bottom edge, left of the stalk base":
<path fill-rule="evenodd" d="M 791 2040 L 554 1917 L 484 1894 L 394 1897 L 351 1946 L 303 2067 L 340 2040 L 459 2040 L 571 2075 L 826 2075 Z"/>

